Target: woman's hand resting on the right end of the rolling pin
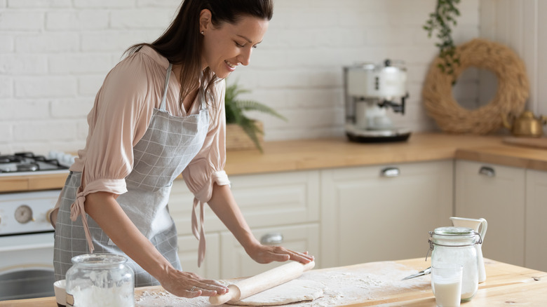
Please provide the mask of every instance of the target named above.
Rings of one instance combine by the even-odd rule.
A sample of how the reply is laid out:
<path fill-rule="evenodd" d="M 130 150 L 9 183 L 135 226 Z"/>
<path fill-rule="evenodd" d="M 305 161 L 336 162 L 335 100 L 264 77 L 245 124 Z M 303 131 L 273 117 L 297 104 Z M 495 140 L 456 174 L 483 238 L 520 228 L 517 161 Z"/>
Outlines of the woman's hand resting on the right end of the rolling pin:
<path fill-rule="evenodd" d="M 302 262 L 303 264 L 308 264 L 313 261 L 313 256 L 308 254 L 308 252 L 294 252 L 292 250 L 287 250 L 285 247 L 281 246 L 271 246 L 271 245 L 254 245 L 247 250 L 249 256 L 257 261 L 259 264 L 269 264 L 273 261 L 288 261 L 294 260 Z"/>

